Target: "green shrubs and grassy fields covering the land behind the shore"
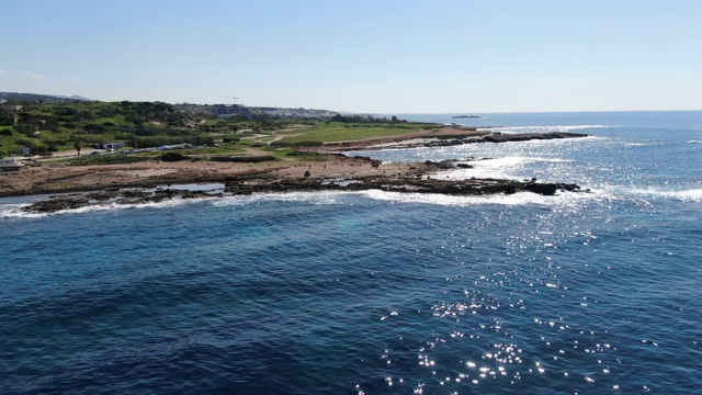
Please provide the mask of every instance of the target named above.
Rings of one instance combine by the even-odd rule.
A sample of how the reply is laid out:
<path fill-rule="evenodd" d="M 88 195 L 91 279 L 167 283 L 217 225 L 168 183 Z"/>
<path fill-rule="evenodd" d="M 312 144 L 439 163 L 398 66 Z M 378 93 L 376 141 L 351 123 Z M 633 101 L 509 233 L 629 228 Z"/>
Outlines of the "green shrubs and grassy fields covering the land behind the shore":
<path fill-rule="evenodd" d="M 335 115 L 326 121 L 271 120 L 265 116 L 218 119 L 214 114 L 177 110 L 161 102 L 94 102 L 45 98 L 8 100 L 0 105 L 0 157 L 19 154 L 50 155 L 61 150 L 83 154 L 99 144 L 120 143 L 122 150 L 159 157 L 157 149 L 180 147 L 181 154 L 227 157 L 250 148 L 273 157 L 302 158 L 290 149 L 373 136 L 394 136 L 439 125 L 408 123 L 372 115 Z M 56 99 L 56 98 L 55 98 Z M 34 101 L 30 101 L 34 100 Z M 154 151 L 146 151 L 152 149 Z M 241 157 L 227 157 L 241 158 Z M 97 159 L 71 163 L 118 161 Z M 240 159 L 236 159 L 240 160 Z M 259 159 L 256 159 L 259 160 Z M 271 159 L 267 159 L 271 160 Z"/>

